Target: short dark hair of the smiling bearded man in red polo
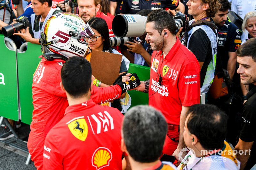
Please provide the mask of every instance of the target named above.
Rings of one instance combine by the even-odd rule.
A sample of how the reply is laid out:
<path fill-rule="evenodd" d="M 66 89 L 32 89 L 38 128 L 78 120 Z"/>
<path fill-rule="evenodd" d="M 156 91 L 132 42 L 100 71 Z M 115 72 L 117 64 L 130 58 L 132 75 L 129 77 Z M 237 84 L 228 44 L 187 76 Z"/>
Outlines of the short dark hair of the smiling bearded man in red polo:
<path fill-rule="evenodd" d="M 171 14 L 163 9 L 153 10 L 148 14 L 147 23 L 155 22 L 154 29 L 161 35 L 163 29 L 168 29 L 175 35 L 176 24 Z"/>

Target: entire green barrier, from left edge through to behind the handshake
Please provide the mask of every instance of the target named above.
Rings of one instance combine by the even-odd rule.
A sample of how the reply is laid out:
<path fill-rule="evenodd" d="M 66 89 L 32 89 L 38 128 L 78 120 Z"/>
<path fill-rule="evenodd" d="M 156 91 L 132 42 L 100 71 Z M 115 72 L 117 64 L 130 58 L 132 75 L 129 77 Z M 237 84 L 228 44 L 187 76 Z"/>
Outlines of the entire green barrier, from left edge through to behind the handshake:
<path fill-rule="evenodd" d="M 4 36 L 0 34 L 0 116 L 30 124 L 32 121 L 32 81 L 33 74 L 40 62 L 40 45 L 28 43 L 25 53 L 16 53 L 9 50 L 4 43 Z M 16 61 L 18 69 L 16 68 Z M 17 83 L 17 70 L 19 83 Z M 150 68 L 137 64 L 130 64 L 129 72 L 137 73 L 140 80 L 148 80 Z M 19 84 L 19 95 L 18 87 Z M 148 104 L 148 93 L 129 91 L 132 97 L 132 106 Z M 20 107 L 18 103 L 20 99 Z M 21 117 L 19 117 L 19 109 Z"/>

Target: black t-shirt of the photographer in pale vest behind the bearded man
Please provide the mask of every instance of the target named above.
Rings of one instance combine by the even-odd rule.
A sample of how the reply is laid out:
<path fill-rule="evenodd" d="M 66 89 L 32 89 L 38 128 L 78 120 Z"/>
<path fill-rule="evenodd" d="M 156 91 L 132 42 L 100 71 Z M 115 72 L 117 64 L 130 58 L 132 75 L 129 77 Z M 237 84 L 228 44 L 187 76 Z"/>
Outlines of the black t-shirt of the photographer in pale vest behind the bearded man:
<path fill-rule="evenodd" d="M 199 62 L 204 62 L 200 71 L 200 87 L 203 86 L 205 74 L 212 60 L 211 41 L 201 28 L 196 30 L 190 37 L 188 49 L 192 51 Z"/>

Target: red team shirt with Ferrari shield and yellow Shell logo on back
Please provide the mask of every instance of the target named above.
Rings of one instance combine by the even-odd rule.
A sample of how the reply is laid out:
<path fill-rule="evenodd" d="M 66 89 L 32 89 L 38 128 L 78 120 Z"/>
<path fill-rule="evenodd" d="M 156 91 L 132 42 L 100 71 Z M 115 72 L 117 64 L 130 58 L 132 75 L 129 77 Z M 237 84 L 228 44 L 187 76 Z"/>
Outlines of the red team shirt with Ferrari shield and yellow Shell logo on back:
<path fill-rule="evenodd" d="M 46 136 L 43 169 L 122 169 L 123 118 L 116 108 L 92 99 L 68 106 Z"/>

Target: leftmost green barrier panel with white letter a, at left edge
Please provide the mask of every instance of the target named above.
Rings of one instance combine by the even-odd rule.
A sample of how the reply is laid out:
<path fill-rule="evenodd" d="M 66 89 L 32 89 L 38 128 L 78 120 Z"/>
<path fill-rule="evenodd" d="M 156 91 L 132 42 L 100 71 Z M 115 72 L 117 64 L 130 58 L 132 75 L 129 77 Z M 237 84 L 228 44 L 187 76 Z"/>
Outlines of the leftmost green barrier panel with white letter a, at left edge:
<path fill-rule="evenodd" d="M 15 51 L 9 50 L 0 35 L 0 116 L 19 120 Z"/>

